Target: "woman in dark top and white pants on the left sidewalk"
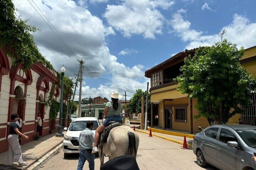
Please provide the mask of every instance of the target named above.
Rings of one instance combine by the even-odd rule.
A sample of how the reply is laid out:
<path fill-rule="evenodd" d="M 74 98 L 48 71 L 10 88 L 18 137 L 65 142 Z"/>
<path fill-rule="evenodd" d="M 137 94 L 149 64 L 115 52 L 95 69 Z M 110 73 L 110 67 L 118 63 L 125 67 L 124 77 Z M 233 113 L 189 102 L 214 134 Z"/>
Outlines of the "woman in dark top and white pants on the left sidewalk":
<path fill-rule="evenodd" d="M 11 122 L 9 125 L 10 128 L 10 134 L 8 135 L 8 165 L 13 165 L 13 156 L 18 160 L 19 166 L 24 166 L 26 163 L 23 161 L 21 156 L 21 146 L 19 144 L 18 136 L 21 135 L 25 139 L 29 139 L 28 136 L 22 134 L 19 129 L 19 125 L 16 124 L 17 120 L 19 119 L 19 115 L 12 114 L 11 115 Z"/>

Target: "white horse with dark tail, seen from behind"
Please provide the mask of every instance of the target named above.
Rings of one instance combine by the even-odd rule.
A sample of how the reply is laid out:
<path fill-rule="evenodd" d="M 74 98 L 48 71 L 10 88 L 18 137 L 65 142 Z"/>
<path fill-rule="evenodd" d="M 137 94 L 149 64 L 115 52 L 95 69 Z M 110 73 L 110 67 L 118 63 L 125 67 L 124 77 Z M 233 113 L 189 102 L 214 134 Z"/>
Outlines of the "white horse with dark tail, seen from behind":
<path fill-rule="evenodd" d="M 117 126 L 109 132 L 107 142 L 103 144 L 102 157 L 99 149 L 101 165 L 104 164 L 104 154 L 109 156 L 109 160 L 122 155 L 132 155 L 136 159 L 138 147 L 138 134 L 128 126 Z"/>

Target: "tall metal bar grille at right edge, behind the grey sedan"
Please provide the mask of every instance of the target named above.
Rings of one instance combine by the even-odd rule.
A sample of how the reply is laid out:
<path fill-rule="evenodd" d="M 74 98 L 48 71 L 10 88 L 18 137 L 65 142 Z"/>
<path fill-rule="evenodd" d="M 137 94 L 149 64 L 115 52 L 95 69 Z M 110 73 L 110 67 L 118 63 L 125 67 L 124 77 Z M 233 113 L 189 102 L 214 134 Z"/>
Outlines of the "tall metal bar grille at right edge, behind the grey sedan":
<path fill-rule="evenodd" d="M 245 113 L 241 114 L 241 122 L 245 125 L 256 125 L 256 96 L 251 96 L 252 105 L 241 106 Z"/>

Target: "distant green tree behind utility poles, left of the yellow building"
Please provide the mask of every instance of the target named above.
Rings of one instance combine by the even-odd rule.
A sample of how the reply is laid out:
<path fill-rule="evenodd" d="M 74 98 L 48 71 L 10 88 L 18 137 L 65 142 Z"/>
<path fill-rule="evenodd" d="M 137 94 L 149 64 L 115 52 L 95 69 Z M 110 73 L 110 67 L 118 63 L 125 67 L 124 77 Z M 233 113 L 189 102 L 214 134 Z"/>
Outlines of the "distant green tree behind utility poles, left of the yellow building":
<path fill-rule="evenodd" d="M 129 113 L 141 113 L 141 96 L 144 94 L 145 102 L 144 102 L 144 108 L 146 108 L 146 96 L 147 91 L 142 91 L 141 89 L 137 89 L 136 93 L 133 95 L 133 97 L 130 99 L 130 103 L 127 104 L 127 110 L 126 112 Z M 148 95 L 148 113 L 150 112 L 150 93 Z"/>

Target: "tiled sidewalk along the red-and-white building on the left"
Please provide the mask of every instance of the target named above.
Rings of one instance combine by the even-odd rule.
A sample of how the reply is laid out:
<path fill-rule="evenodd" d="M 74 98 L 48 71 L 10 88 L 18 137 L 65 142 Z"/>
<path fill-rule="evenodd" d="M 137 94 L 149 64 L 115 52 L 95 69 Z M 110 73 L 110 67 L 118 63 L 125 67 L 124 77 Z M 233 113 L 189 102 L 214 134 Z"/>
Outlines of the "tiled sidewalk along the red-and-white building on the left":
<path fill-rule="evenodd" d="M 62 132 L 65 133 L 65 132 Z M 27 144 L 21 145 L 22 159 L 27 163 L 27 166 L 21 167 L 21 169 L 27 169 L 39 159 L 55 149 L 58 145 L 62 144 L 63 137 L 55 137 L 55 134 L 46 135 L 38 141 L 32 141 Z M 24 139 L 23 139 L 24 140 Z M 0 164 L 8 164 L 8 151 L 0 154 Z M 14 156 L 14 164 L 18 164 L 17 159 Z M 18 166 L 16 166 L 18 168 Z"/>

